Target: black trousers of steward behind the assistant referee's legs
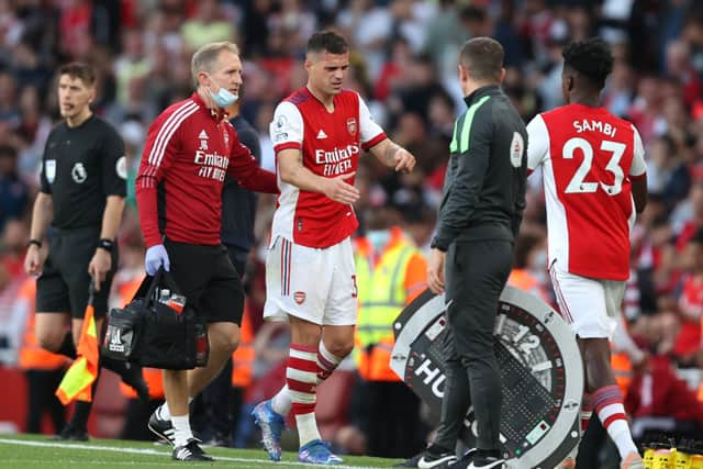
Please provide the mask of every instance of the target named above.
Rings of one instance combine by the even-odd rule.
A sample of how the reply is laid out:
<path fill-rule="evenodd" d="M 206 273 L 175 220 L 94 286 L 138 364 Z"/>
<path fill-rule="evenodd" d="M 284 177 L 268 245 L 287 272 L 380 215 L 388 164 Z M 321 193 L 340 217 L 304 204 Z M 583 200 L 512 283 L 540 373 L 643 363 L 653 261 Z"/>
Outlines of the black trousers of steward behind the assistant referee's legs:
<path fill-rule="evenodd" d="M 27 389 L 26 433 L 42 433 L 42 416 L 48 412 L 58 433 L 66 424 L 66 410 L 54 394 L 64 378 L 64 369 L 25 370 Z"/>

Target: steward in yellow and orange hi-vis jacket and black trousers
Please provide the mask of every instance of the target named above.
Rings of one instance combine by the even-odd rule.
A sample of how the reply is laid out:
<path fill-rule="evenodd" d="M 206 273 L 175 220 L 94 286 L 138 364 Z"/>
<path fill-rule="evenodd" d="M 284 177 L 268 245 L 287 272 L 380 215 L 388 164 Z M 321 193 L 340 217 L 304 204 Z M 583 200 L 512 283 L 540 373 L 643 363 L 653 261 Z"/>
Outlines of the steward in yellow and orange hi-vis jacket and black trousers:
<path fill-rule="evenodd" d="M 354 243 L 359 302 L 354 357 L 365 403 L 364 415 L 356 417 L 364 423 L 367 455 L 406 458 L 424 438 L 420 401 L 390 369 L 392 326 L 426 289 L 427 263 L 393 219 L 387 209 L 371 209 L 366 235 Z"/>

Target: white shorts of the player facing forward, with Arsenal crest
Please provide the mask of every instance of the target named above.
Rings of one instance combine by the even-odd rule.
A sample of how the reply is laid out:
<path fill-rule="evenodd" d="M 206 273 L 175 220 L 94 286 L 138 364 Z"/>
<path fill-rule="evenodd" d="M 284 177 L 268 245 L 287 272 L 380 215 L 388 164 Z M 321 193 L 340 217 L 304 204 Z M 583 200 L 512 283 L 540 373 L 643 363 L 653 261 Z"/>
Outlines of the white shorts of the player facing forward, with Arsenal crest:
<path fill-rule="evenodd" d="M 352 241 L 325 248 L 277 237 L 266 253 L 264 319 L 288 314 L 320 325 L 354 325 L 357 316 L 356 267 Z"/>

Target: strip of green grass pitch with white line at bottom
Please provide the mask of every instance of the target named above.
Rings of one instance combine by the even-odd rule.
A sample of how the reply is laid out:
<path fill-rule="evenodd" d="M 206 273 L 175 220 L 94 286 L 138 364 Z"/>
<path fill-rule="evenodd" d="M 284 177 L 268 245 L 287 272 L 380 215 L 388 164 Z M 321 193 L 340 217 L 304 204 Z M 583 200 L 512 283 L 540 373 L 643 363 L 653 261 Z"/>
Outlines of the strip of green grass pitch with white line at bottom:
<path fill-rule="evenodd" d="M 90 442 L 52 442 L 45 435 L 0 435 L 0 468 L 163 468 L 165 466 L 215 466 L 243 469 L 304 469 L 327 467 L 298 462 L 298 455 L 284 451 L 283 460 L 271 462 L 263 449 L 208 448 L 214 462 L 179 462 L 171 460 L 170 446 L 119 439 L 91 439 Z M 388 468 L 398 459 L 343 456 L 339 469 Z"/>

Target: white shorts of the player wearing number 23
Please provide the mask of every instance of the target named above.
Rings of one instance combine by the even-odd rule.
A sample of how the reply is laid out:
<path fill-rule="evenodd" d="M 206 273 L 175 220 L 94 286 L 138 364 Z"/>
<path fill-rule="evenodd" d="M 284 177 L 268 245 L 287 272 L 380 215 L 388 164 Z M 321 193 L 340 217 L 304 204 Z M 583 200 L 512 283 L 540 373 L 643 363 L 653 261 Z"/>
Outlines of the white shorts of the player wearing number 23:
<path fill-rule="evenodd" d="M 625 282 L 581 277 L 549 268 L 561 316 L 581 338 L 613 338 L 625 294 Z"/>

